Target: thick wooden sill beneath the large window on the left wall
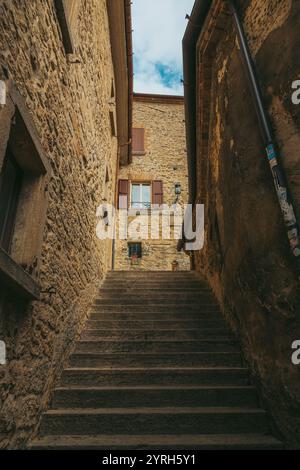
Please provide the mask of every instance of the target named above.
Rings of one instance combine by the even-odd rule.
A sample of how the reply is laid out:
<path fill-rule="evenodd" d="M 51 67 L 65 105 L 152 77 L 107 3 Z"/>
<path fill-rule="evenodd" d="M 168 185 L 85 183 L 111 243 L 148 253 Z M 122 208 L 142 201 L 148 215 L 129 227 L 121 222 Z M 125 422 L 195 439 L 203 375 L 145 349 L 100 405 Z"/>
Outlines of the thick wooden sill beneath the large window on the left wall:
<path fill-rule="evenodd" d="M 38 300 L 40 288 L 37 282 L 0 248 L 0 282 L 8 292 L 22 299 Z"/>

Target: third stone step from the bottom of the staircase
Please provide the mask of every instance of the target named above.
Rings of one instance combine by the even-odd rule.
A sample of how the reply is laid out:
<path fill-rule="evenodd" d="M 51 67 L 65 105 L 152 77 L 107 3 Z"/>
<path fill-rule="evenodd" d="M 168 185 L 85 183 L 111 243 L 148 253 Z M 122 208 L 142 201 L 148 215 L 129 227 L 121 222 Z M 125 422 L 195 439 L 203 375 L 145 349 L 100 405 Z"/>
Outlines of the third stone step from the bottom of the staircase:
<path fill-rule="evenodd" d="M 160 406 L 244 406 L 257 408 L 254 387 L 144 386 L 60 387 L 54 392 L 52 408 L 129 408 Z"/>

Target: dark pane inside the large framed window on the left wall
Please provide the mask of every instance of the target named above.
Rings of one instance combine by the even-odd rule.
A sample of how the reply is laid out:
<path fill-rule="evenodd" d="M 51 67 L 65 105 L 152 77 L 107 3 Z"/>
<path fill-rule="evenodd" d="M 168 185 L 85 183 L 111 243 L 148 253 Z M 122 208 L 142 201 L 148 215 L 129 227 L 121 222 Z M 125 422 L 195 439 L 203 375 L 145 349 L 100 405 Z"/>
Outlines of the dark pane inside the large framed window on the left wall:
<path fill-rule="evenodd" d="M 10 252 L 23 172 L 7 150 L 0 173 L 0 246 Z"/>

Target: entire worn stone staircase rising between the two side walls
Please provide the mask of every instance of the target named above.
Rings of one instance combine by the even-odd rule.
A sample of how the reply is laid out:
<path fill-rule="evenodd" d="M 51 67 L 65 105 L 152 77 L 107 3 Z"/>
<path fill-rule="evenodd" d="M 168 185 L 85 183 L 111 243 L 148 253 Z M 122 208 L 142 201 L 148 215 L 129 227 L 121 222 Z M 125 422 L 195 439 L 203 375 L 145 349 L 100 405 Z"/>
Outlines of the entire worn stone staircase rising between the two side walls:
<path fill-rule="evenodd" d="M 279 449 L 192 272 L 112 272 L 32 449 Z"/>

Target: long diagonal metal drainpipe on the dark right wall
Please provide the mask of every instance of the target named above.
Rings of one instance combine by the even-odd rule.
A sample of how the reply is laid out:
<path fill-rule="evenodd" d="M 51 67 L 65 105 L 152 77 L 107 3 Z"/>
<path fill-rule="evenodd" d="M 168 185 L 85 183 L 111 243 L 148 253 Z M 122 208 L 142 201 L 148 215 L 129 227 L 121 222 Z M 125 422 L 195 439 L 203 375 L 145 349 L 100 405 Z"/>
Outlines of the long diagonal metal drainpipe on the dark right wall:
<path fill-rule="evenodd" d="M 291 252 L 296 261 L 296 269 L 298 277 L 300 278 L 300 236 L 299 236 L 299 225 L 295 215 L 293 203 L 289 194 L 289 190 L 286 184 L 286 177 L 284 170 L 277 158 L 276 145 L 273 138 L 272 129 L 270 126 L 267 113 L 264 108 L 262 92 L 258 83 L 258 79 L 255 73 L 254 62 L 251 57 L 251 52 L 248 46 L 244 27 L 238 11 L 236 9 L 233 0 L 227 0 L 233 14 L 235 26 L 238 33 L 239 45 L 243 54 L 244 64 L 247 71 L 247 75 L 250 80 L 252 93 L 255 99 L 256 111 L 258 114 L 260 127 L 265 142 L 266 155 L 271 168 L 274 185 L 276 188 L 281 212 L 283 215 L 286 231 L 290 243 Z"/>

